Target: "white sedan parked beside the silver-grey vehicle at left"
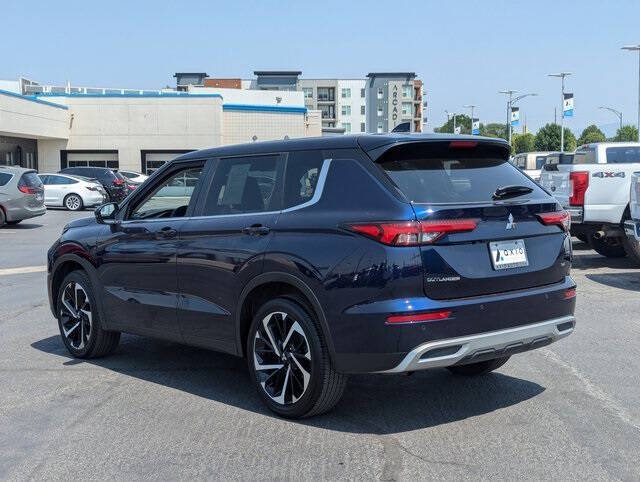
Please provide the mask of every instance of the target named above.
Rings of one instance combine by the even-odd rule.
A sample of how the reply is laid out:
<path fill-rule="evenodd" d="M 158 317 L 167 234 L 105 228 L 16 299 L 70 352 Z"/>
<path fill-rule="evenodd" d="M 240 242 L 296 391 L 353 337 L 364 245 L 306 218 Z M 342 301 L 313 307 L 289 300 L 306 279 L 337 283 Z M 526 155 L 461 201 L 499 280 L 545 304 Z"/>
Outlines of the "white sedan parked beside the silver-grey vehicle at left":
<path fill-rule="evenodd" d="M 107 202 L 109 196 L 97 181 L 82 176 L 68 174 L 38 174 L 44 184 L 44 203 L 46 206 L 65 207 L 70 211 Z"/>

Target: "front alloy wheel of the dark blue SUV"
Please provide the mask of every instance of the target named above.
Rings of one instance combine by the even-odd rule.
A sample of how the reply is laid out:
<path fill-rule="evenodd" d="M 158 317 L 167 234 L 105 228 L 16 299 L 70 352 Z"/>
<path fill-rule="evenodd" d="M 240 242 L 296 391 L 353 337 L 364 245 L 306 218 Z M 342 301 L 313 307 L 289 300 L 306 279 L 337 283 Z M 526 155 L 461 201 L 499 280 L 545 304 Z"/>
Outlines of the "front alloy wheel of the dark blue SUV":
<path fill-rule="evenodd" d="M 62 335 L 75 350 L 87 345 L 93 326 L 91 301 L 85 289 L 75 281 L 65 286 L 60 303 Z"/>

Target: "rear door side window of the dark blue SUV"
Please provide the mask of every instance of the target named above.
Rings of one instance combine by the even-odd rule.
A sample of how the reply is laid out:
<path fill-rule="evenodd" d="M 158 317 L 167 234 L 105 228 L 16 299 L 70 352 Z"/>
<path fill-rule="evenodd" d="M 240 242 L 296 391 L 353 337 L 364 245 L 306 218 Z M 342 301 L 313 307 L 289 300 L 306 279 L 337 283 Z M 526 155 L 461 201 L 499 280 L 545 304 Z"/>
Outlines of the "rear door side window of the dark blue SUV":
<path fill-rule="evenodd" d="M 220 159 L 207 196 L 205 216 L 280 209 L 276 183 L 280 155 Z"/>

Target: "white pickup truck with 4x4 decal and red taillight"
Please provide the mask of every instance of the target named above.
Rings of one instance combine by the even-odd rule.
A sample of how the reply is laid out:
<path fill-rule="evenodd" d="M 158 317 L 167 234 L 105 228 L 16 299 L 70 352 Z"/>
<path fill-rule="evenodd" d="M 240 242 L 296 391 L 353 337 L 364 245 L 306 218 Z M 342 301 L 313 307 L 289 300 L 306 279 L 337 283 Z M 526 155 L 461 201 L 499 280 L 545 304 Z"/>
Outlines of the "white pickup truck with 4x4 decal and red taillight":
<path fill-rule="evenodd" d="M 637 171 L 640 143 L 599 142 L 580 146 L 570 162 L 546 164 L 540 185 L 571 214 L 571 234 L 603 256 L 640 264 L 640 241 L 625 232 Z"/>

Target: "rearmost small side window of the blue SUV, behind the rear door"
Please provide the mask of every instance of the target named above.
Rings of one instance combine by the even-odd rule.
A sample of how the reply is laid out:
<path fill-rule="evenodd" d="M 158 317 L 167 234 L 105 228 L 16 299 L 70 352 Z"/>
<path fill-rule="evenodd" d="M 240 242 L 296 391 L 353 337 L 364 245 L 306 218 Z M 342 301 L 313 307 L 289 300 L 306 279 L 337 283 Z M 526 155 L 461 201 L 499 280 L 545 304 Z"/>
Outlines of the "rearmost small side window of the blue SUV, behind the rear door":
<path fill-rule="evenodd" d="M 283 208 L 297 206 L 313 197 L 322 162 L 320 151 L 295 151 L 289 154 L 284 177 Z"/>

